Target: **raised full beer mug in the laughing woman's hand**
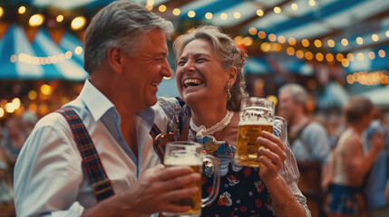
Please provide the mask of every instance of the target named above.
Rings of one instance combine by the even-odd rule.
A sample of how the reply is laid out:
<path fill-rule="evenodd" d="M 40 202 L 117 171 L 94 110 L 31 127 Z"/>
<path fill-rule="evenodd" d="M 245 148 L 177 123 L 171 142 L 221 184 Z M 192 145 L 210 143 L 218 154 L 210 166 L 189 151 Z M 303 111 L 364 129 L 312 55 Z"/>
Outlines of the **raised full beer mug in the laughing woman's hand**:
<path fill-rule="evenodd" d="M 243 99 L 239 112 L 238 145 L 234 156 L 234 160 L 238 165 L 249 167 L 260 167 L 262 165 L 259 162 L 258 148 L 260 145 L 257 138 L 262 137 L 262 130 L 273 133 L 275 121 L 281 122 L 282 120 L 275 118 L 273 101 L 254 97 Z M 286 122 L 284 126 L 286 126 L 285 124 Z M 285 132 L 284 127 L 284 130 L 280 132 L 280 136 L 284 137 L 281 140 L 287 139 Z"/>

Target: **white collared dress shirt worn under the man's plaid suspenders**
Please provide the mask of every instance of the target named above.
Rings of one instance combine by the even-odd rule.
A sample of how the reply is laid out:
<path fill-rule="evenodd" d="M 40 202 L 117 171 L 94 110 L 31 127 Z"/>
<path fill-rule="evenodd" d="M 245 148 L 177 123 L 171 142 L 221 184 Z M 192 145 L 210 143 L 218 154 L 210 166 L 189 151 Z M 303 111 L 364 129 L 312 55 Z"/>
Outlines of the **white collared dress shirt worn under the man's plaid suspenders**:
<path fill-rule="evenodd" d="M 65 106 L 83 119 L 115 193 L 129 189 L 146 169 L 160 163 L 149 135 L 154 121 L 167 125 L 158 105 L 136 116 L 138 153 L 123 139 L 121 119 L 112 102 L 89 80 L 79 97 Z M 15 165 L 17 216 L 81 216 L 96 203 L 67 121 L 56 112 L 40 119 Z"/>

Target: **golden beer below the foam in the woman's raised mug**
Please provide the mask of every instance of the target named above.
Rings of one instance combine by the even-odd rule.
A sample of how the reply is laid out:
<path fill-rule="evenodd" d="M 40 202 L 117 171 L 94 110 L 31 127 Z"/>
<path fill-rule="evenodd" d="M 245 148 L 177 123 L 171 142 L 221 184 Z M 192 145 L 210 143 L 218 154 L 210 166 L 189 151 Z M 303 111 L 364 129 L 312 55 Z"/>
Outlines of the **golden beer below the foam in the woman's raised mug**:
<path fill-rule="evenodd" d="M 250 167 L 259 167 L 262 165 L 259 162 L 259 144 L 257 141 L 258 137 L 262 137 L 262 130 L 272 133 L 273 125 L 239 125 L 238 145 L 234 159 L 238 165 L 245 165 Z"/>

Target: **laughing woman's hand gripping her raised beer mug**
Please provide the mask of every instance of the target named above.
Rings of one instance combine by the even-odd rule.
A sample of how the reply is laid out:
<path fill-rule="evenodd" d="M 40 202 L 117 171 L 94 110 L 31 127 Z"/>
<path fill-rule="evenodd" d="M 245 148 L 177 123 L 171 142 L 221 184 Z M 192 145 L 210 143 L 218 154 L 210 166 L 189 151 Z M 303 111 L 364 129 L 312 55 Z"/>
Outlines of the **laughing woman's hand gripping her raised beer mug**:
<path fill-rule="evenodd" d="M 278 137 L 267 131 L 262 131 L 258 143 L 261 145 L 258 148 L 258 153 L 261 155 L 259 160 L 263 164 L 259 169 L 259 176 L 267 184 L 277 179 L 278 170 L 287 159 L 287 148 Z"/>

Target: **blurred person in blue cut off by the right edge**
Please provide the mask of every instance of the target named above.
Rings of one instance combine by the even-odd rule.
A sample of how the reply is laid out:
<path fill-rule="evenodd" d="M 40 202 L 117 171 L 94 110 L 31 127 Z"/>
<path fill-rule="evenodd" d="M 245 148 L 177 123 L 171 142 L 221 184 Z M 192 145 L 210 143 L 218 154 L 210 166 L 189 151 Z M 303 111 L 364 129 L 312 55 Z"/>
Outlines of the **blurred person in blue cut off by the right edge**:
<path fill-rule="evenodd" d="M 389 216 L 389 205 L 384 199 L 384 189 L 389 181 L 389 135 L 383 124 L 381 111 L 374 108 L 374 121 L 365 130 L 365 146 L 370 151 L 372 142 L 383 134 L 384 149 L 375 157 L 365 181 L 364 195 L 369 217 Z"/>

